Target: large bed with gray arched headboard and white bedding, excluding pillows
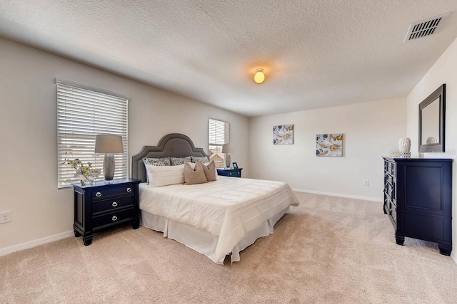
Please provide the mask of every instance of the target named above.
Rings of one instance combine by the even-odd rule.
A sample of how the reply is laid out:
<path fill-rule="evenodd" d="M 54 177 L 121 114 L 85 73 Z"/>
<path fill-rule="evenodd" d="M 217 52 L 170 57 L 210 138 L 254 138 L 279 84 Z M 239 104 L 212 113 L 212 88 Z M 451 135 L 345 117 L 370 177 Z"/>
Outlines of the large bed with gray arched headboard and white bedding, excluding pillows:
<path fill-rule="evenodd" d="M 145 146 L 131 158 L 131 177 L 139 186 L 142 226 L 164 233 L 211 261 L 240 261 L 240 251 L 261 236 L 297 206 L 298 200 L 283 182 L 218 176 L 203 184 L 170 184 L 152 187 L 146 183 L 144 158 L 208 157 L 182 134 L 164 136 L 157 146 Z"/>

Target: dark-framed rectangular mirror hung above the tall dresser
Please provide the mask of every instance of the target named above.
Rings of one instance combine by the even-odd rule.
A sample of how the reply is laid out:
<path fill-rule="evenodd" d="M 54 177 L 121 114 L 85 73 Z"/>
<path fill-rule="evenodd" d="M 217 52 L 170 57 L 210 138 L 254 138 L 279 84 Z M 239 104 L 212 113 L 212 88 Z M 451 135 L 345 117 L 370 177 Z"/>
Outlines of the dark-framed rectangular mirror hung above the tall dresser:
<path fill-rule="evenodd" d="M 419 104 L 419 152 L 444 152 L 446 84 Z"/>

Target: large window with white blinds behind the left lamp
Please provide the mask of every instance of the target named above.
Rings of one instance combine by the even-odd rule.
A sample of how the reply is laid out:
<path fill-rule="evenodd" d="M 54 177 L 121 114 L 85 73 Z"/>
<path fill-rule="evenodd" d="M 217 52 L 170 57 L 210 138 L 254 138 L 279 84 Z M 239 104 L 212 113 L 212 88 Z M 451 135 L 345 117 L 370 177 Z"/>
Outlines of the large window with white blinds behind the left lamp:
<path fill-rule="evenodd" d="M 127 108 L 129 98 L 87 85 L 56 79 L 57 84 L 57 156 L 59 188 L 78 182 L 75 171 L 65 159 L 79 158 L 103 169 L 104 154 L 95 154 L 98 134 L 121 135 L 123 154 L 114 154 L 114 178 L 127 177 Z M 103 179 L 103 172 L 98 179 Z"/>

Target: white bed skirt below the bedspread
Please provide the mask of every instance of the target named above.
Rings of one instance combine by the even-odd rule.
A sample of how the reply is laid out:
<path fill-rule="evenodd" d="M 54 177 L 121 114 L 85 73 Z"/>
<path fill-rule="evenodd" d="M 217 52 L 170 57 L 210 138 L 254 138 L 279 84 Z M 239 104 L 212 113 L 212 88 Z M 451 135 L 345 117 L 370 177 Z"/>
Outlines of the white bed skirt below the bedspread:
<path fill-rule="evenodd" d="M 240 251 L 253 244 L 256 239 L 261 236 L 268 236 L 273 234 L 273 226 L 290 210 L 289 207 L 283 209 L 275 216 L 272 216 L 267 221 L 264 221 L 253 231 L 246 234 L 231 251 L 231 262 L 240 261 Z M 141 210 L 140 224 L 146 228 L 160 231 L 164 233 L 164 237 L 174 239 L 184 246 L 187 246 L 195 251 L 209 257 L 211 261 L 217 264 L 224 264 L 224 258 L 221 260 L 216 259 L 216 245 L 219 236 L 214 236 L 207 231 L 196 229 L 194 226 L 182 224 L 171 219 L 166 219 L 163 216 L 156 216 Z M 227 254 L 230 254 L 229 252 Z"/>

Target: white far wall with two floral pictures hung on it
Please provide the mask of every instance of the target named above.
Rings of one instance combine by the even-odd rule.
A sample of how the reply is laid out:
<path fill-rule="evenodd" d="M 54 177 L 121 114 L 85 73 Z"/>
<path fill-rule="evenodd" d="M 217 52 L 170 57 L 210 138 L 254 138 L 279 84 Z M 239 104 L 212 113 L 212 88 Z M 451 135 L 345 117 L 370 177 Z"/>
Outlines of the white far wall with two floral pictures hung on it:
<path fill-rule="evenodd" d="M 273 125 L 294 125 L 293 145 L 273 145 Z M 343 157 L 316 157 L 316 135 L 343 133 Z M 293 189 L 383 200 L 383 159 L 406 135 L 404 98 L 249 120 L 251 177 Z M 370 186 L 364 186 L 369 180 Z"/>

